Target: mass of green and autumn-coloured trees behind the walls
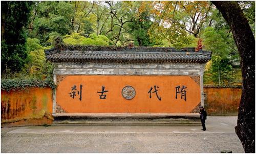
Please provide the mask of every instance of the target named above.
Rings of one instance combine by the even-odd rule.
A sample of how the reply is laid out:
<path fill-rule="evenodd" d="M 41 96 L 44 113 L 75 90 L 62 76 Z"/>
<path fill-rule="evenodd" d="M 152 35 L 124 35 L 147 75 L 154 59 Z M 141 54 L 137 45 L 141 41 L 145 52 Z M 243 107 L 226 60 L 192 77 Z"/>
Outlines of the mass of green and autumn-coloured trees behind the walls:
<path fill-rule="evenodd" d="M 239 5 L 254 33 L 255 3 Z M 204 83 L 242 84 L 231 29 L 211 2 L 4 2 L 2 21 L 2 73 L 41 74 L 43 50 L 53 47 L 56 37 L 70 45 L 176 48 L 196 47 L 202 39 L 203 49 L 212 51 Z"/>

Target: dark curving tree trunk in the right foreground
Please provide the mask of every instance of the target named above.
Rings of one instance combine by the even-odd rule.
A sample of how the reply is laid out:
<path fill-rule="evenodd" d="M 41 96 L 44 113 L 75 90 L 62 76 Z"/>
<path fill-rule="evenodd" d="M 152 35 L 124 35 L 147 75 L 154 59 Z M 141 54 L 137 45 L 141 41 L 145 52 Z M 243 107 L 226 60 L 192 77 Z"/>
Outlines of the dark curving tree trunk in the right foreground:
<path fill-rule="evenodd" d="M 212 1 L 229 24 L 236 41 L 243 76 L 236 134 L 245 152 L 255 152 L 255 39 L 237 2 Z"/>

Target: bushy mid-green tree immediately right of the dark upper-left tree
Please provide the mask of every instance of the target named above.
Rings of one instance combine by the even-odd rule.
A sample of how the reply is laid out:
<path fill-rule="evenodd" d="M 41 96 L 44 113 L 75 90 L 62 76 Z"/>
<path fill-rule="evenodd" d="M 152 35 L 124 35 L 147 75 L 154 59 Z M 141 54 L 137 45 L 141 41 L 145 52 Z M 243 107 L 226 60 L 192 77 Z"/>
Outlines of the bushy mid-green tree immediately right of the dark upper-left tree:
<path fill-rule="evenodd" d="M 56 34 L 70 32 L 70 21 L 74 16 L 70 3 L 41 2 L 37 4 L 36 10 L 38 15 L 35 16 L 34 31 L 42 45 L 50 45 Z"/>

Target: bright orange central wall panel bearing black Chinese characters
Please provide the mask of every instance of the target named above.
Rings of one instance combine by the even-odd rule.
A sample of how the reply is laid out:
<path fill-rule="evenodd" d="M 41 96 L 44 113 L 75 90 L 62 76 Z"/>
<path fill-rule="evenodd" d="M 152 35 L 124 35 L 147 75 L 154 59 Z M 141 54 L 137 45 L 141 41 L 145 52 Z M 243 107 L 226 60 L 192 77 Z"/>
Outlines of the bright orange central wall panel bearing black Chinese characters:
<path fill-rule="evenodd" d="M 70 97 L 76 85 L 79 91 L 82 85 L 82 100 L 79 95 Z M 131 100 L 123 98 L 123 87 L 134 87 L 136 95 Z M 148 91 L 158 86 L 158 95 Z M 186 86 L 186 101 L 181 94 L 176 95 L 176 86 Z M 104 86 L 106 99 L 100 99 L 101 86 Z M 190 76 L 100 76 L 67 75 L 56 90 L 56 104 L 66 113 L 190 113 L 200 103 L 200 86 Z"/>

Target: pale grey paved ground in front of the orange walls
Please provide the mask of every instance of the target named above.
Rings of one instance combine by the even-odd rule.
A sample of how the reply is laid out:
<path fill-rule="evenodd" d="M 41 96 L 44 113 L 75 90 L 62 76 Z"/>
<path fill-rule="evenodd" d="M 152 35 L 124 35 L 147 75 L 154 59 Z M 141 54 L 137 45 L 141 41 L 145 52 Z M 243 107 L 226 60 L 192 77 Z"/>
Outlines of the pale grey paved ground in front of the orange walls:
<path fill-rule="evenodd" d="M 27 126 L 2 128 L 1 152 L 244 152 L 236 116 L 199 126 Z"/>

